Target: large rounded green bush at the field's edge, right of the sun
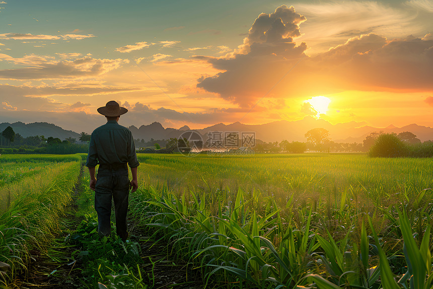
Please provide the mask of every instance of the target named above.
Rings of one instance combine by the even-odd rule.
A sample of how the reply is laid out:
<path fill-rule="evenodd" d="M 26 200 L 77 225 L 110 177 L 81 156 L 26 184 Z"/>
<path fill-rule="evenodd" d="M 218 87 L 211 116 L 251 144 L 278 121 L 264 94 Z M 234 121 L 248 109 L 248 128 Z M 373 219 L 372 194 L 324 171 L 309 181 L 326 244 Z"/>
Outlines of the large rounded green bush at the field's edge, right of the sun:
<path fill-rule="evenodd" d="M 411 149 L 395 134 L 380 135 L 375 144 L 370 148 L 372 157 L 403 157 L 409 156 Z"/>

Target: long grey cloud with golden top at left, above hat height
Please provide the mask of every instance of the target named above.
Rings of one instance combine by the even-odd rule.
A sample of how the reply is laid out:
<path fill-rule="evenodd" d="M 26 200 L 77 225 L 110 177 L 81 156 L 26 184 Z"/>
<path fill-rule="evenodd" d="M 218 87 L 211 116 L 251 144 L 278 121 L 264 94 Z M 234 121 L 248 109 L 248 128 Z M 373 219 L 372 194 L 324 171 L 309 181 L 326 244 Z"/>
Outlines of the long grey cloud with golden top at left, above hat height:
<path fill-rule="evenodd" d="M 5 55 L 0 54 L 0 59 L 3 58 L 15 64 L 29 64 L 35 67 L 0 70 L 0 79 L 39 80 L 99 76 L 129 62 L 122 59 L 94 59 L 90 56 L 84 56 L 73 61 L 54 61 L 50 56 L 37 56 L 34 54 L 32 54 L 33 57 L 25 56 L 21 59 L 14 59 L 9 55 Z"/>

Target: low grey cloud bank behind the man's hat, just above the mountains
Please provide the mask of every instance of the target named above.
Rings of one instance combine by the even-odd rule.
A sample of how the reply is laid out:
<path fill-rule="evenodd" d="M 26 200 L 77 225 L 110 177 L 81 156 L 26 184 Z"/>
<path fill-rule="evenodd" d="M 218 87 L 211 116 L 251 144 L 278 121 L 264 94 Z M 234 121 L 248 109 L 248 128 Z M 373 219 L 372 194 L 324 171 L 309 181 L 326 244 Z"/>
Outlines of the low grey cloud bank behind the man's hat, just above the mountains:
<path fill-rule="evenodd" d="M 33 98 L 29 98 L 34 106 L 39 109 L 33 110 L 6 110 L 0 113 L 0 123 L 2 122 L 47 122 L 54 123 L 65 130 L 72 130 L 75 132 L 91 133 L 95 128 L 106 123 L 106 119 L 96 113 L 96 107 L 84 106 L 76 109 L 71 108 L 70 104 L 52 103 L 46 99 L 38 99 L 35 102 Z M 75 104 L 73 104 L 75 105 Z M 79 106 L 77 104 L 77 106 Z M 105 105 L 101 103 L 100 106 Z M 98 106 L 98 105 L 97 105 Z M 54 108 L 57 107 L 57 108 Z M 58 109 L 60 111 L 51 111 Z M 197 127 L 200 124 L 213 125 L 224 122 L 235 122 L 239 120 L 239 109 L 230 108 L 210 108 L 201 112 L 179 112 L 174 109 L 159 107 L 157 109 L 151 108 L 149 105 L 136 102 L 128 107 L 128 112 L 120 118 L 122 126 L 140 127 L 141 125 L 151 124 L 153 122 L 160 122 L 164 127 L 181 127 L 189 124 L 191 127 Z M 87 109 L 86 109 L 87 108 Z M 90 108 L 90 109 L 89 109 Z M 81 110 L 80 110 L 81 109 Z M 92 113 L 90 113 L 90 112 Z"/>

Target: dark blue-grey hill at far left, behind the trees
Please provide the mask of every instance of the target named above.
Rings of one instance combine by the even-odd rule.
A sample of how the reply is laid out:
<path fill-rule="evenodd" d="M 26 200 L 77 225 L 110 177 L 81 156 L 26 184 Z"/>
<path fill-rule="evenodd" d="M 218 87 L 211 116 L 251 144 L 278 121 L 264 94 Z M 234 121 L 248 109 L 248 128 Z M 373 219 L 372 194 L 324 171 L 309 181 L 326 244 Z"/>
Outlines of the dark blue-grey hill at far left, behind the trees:
<path fill-rule="evenodd" d="M 66 131 L 62 128 L 48 123 L 31 123 L 31 124 L 25 124 L 21 122 L 17 123 L 1 123 L 0 124 L 0 131 L 4 131 L 7 127 L 12 127 L 14 132 L 17 134 L 20 134 L 22 137 L 29 137 L 29 136 L 44 136 L 45 138 L 53 137 L 53 138 L 59 138 L 61 140 L 64 140 L 66 138 L 78 138 L 81 136 L 80 134 L 73 132 L 73 131 Z"/>

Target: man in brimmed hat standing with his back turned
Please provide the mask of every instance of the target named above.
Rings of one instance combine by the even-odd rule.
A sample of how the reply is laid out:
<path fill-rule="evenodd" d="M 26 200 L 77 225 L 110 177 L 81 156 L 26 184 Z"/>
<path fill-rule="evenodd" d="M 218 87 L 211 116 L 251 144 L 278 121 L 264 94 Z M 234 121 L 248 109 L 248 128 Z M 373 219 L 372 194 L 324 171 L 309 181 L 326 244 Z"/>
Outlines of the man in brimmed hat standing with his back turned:
<path fill-rule="evenodd" d="M 129 190 L 138 188 L 137 156 L 131 132 L 120 126 L 120 115 L 128 110 L 116 101 L 109 101 L 98 112 L 105 115 L 107 123 L 93 131 L 90 138 L 86 166 L 89 168 L 90 189 L 95 191 L 95 209 L 98 213 L 98 233 L 109 236 L 111 233 L 111 199 L 116 215 L 116 234 L 123 240 L 129 236 L 126 215 L 128 212 Z M 95 167 L 99 164 L 98 178 Z M 132 181 L 129 182 L 128 167 L 131 168 Z"/>

